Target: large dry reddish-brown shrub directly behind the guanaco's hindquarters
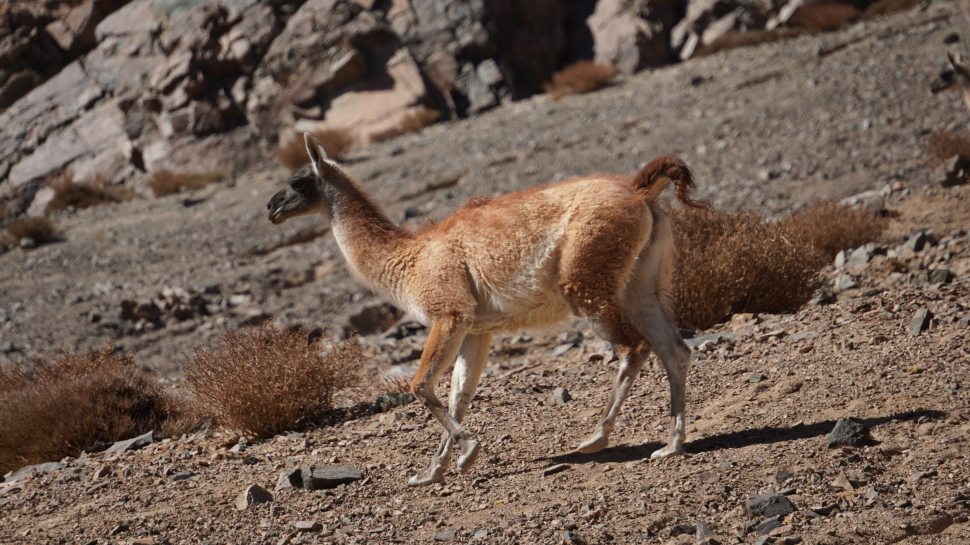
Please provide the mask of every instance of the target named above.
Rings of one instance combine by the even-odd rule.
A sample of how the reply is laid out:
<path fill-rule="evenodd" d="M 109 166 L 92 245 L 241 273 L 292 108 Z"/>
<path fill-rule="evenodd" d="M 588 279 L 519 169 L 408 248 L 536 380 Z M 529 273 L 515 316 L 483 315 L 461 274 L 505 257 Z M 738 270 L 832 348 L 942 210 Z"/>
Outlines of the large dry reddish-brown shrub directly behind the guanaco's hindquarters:
<path fill-rule="evenodd" d="M 792 312 L 821 286 L 828 262 L 787 225 L 757 214 L 676 208 L 677 323 L 707 329 L 738 312 Z"/>

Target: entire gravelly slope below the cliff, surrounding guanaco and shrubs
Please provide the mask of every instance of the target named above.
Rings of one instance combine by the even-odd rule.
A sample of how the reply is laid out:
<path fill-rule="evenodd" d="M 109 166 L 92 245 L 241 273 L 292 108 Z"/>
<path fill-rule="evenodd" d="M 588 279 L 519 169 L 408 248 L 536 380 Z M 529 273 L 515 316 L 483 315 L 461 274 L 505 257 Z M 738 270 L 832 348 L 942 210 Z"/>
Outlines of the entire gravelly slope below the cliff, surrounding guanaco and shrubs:
<path fill-rule="evenodd" d="M 203 430 L 8 479 L 0 543 L 970 543 L 970 190 L 933 185 L 923 147 L 934 129 L 970 124 L 957 94 L 929 92 L 944 51 L 965 51 L 968 33 L 958 2 L 933 2 L 592 94 L 538 95 L 347 155 L 348 171 L 409 222 L 475 195 L 632 174 L 661 153 L 682 157 L 700 197 L 728 210 L 783 216 L 891 188 L 881 252 L 830 267 L 837 293 L 696 332 L 730 335 L 692 343 L 686 456 L 649 459 L 669 425 L 656 366 L 612 446 L 573 452 L 615 374 L 609 347 L 576 322 L 493 341 L 465 419 L 484 453 L 442 484 L 405 484 L 438 443 L 423 408 L 358 406 L 264 442 Z M 178 390 L 179 363 L 226 330 L 272 320 L 342 331 L 380 300 L 350 276 L 320 218 L 266 220 L 286 176 L 266 164 L 176 195 L 56 213 L 59 241 L 0 255 L 0 363 L 113 340 Z M 907 251 L 903 237 L 918 230 L 937 244 Z M 155 322 L 123 313 L 123 301 L 175 298 L 185 311 Z M 932 318 L 914 335 L 921 310 Z M 372 332 L 369 367 L 408 369 L 425 335 Z M 572 399 L 554 404 L 560 387 Z M 848 417 L 869 439 L 829 447 Z M 276 489 L 286 471 L 334 464 L 363 480 Z M 252 484 L 273 499 L 237 509 Z M 770 491 L 790 513 L 746 510 Z"/>

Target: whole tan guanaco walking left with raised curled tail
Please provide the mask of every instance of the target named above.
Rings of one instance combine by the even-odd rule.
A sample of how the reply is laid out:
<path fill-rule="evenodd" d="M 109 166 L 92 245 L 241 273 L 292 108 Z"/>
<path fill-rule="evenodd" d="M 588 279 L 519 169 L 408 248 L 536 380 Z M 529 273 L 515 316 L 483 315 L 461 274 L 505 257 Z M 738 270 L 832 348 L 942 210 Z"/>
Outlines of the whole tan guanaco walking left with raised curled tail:
<path fill-rule="evenodd" d="M 409 484 L 439 482 L 454 443 L 468 470 L 478 442 L 461 427 L 485 365 L 492 333 L 588 319 L 613 343 L 620 369 L 596 429 L 578 450 L 607 446 L 620 405 L 653 350 L 667 370 L 671 430 L 654 457 L 683 452 L 684 389 L 690 352 L 674 325 L 675 250 L 670 222 L 657 204 L 673 183 L 693 188 L 690 170 L 662 156 L 636 177 L 591 176 L 473 199 L 439 225 L 411 232 L 394 225 L 360 185 L 307 134 L 311 164 L 270 200 L 276 224 L 320 213 L 351 269 L 415 319 L 430 326 L 412 389 L 445 428 L 427 471 Z M 437 377 L 452 363 L 446 408 Z"/>

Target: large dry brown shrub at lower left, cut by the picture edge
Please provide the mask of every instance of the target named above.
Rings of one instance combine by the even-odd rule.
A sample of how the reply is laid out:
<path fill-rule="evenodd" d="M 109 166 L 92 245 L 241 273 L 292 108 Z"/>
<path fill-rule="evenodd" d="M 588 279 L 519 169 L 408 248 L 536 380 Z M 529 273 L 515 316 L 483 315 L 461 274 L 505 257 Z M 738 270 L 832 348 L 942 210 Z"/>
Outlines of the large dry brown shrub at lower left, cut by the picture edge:
<path fill-rule="evenodd" d="M 0 369 L 0 473 L 157 430 L 178 414 L 158 382 L 110 344 Z"/>

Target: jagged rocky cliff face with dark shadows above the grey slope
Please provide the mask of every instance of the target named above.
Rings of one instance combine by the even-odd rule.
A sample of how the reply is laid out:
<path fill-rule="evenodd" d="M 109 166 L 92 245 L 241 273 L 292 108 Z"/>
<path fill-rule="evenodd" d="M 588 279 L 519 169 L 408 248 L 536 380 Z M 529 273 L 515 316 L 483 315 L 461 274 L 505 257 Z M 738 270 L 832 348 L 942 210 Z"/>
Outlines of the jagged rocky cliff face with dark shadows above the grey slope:
<path fill-rule="evenodd" d="M 475 115 L 595 58 L 633 73 L 791 0 L 70 0 L 0 4 L 0 201 L 69 168 L 136 189 L 238 172 L 295 131 L 358 143 L 434 109 Z M 854 8 L 853 8 L 854 9 Z"/>

